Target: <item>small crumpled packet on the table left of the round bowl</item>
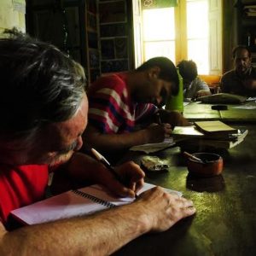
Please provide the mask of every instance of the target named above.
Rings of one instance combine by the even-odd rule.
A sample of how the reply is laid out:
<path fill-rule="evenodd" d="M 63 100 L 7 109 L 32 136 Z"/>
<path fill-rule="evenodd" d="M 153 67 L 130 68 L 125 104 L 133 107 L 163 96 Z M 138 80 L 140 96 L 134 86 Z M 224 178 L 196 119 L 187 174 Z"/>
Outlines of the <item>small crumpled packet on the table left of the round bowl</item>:
<path fill-rule="evenodd" d="M 160 160 L 159 157 L 152 155 L 143 156 L 142 165 L 150 172 L 166 172 L 169 168 L 165 160 Z"/>

